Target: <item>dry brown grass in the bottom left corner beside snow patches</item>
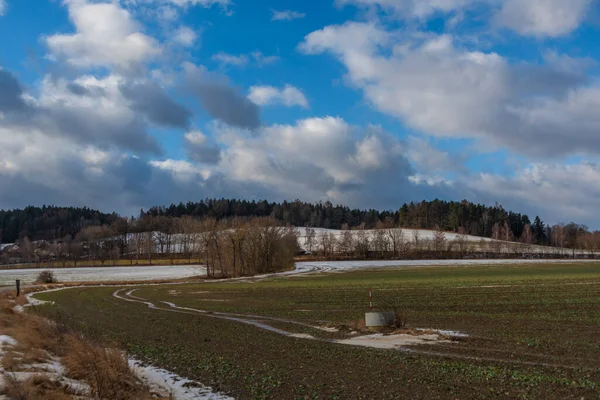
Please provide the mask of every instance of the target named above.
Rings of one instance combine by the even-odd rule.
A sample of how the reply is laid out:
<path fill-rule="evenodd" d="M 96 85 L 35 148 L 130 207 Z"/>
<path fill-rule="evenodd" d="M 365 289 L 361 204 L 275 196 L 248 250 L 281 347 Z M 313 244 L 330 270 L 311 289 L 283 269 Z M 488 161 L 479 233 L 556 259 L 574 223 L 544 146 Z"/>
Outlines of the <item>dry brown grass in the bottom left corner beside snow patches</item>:
<path fill-rule="evenodd" d="M 72 398 L 68 388 L 62 388 L 47 376 L 33 376 L 27 380 L 16 378 L 15 372 L 31 372 L 28 366 L 52 360 L 54 354 L 61 359 L 66 376 L 83 381 L 90 386 L 94 399 L 145 400 L 155 399 L 150 391 L 129 368 L 127 358 L 118 349 L 106 348 L 68 329 L 68 316 L 49 321 L 31 313 L 13 310 L 23 300 L 14 295 L 0 299 L 0 332 L 17 341 L 5 352 L 0 363 L 4 371 L 4 393 L 10 399 Z M 18 300 L 18 301 L 17 301 Z M 25 300 L 26 302 L 26 300 Z"/>

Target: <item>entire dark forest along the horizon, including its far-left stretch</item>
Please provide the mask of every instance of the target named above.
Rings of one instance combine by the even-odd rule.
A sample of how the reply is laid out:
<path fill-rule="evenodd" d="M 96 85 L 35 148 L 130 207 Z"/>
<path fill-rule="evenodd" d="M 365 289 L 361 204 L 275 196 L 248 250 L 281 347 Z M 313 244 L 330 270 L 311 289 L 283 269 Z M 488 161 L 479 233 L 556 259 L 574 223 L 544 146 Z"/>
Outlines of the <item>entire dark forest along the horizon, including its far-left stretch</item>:
<path fill-rule="evenodd" d="M 499 204 L 485 206 L 467 200 L 411 202 L 403 204 L 397 210 L 380 211 L 351 209 L 328 201 L 307 203 L 296 200 L 277 203 L 266 200 L 206 199 L 140 210 L 139 215 L 131 219 L 86 207 L 44 206 L 0 211 L 0 242 L 15 243 L 24 238 L 31 241 L 63 240 L 65 237 L 74 239 L 85 228 L 110 227 L 123 219 L 130 222 L 139 220 L 137 227 L 147 226 L 149 223 L 142 220 L 148 217 L 214 218 L 217 221 L 234 217 L 271 217 L 284 226 L 330 229 L 372 229 L 378 224 L 385 224 L 399 228 L 460 231 L 473 236 L 566 247 L 575 245 L 571 243 L 575 237 L 591 234 L 584 225 L 569 223 L 547 226 L 539 217 L 532 221 L 528 215 L 505 210 Z M 151 225 L 152 229 L 171 229 L 156 226 L 157 223 Z M 556 229 L 560 232 L 556 232 Z"/>

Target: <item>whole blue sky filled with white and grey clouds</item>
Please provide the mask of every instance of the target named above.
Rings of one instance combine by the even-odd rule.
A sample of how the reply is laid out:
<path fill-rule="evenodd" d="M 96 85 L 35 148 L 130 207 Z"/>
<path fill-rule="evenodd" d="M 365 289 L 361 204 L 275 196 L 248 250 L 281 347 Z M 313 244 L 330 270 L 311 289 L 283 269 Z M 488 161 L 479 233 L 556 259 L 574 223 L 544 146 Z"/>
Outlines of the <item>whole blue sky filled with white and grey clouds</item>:
<path fill-rule="evenodd" d="M 467 199 L 600 228 L 600 0 L 0 0 L 0 208 Z"/>

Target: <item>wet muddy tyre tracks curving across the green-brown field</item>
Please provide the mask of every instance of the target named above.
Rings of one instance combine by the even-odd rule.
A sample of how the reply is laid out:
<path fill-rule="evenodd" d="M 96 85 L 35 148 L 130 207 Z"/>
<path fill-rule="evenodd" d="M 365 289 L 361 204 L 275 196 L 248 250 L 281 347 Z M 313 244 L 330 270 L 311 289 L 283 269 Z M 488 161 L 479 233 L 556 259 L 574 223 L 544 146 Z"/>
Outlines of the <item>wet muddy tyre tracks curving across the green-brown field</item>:
<path fill-rule="evenodd" d="M 260 315 L 249 315 L 249 314 L 209 312 L 206 310 L 199 310 L 199 309 L 195 309 L 195 308 L 180 307 L 174 303 L 167 302 L 167 301 L 161 301 L 161 303 L 168 306 L 168 308 L 159 307 L 156 304 L 154 304 L 153 302 L 148 301 L 148 299 L 145 299 L 145 298 L 142 298 L 139 296 L 135 296 L 133 293 L 138 289 L 139 288 L 129 289 L 129 290 L 128 290 L 128 288 L 118 289 L 113 293 L 113 297 L 115 297 L 119 300 L 124 300 L 124 301 L 128 301 L 128 302 L 145 304 L 148 306 L 148 308 L 153 309 L 153 310 L 176 312 L 176 313 L 188 314 L 188 315 L 201 315 L 204 317 L 222 319 L 222 320 L 238 322 L 238 323 L 242 323 L 242 324 L 246 324 L 246 325 L 251 325 L 251 326 L 257 327 L 259 329 L 263 329 L 265 331 L 276 333 L 276 334 L 279 334 L 279 335 L 285 336 L 285 337 L 296 338 L 296 339 L 315 340 L 315 341 L 327 342 L 327 343 L 332 343 L 332 344 L 352 345 L 349 343 L 343 343 L 338 340 L 317 338 L 317 337 L 314 337 L 309 334 L 299 334 L 299 333 L 288 332 L 283 329 L 275 328 L 275 327 L 265 323 L 265 321 L 283 322 L 283 323 L 289 323 L 289 324 L 309 327 L 309 328 L 313 328 L 313 329 L 325 330 L 322 327 L 315 327 L 313 325 L 305 324 L 305 323 L 298 322 L 298 321 L 288 320 L 288 319 L 284 319 L 284 318 L 265 317 L 265 316 L 260 316 Z M 124 292 L 124 291 L 127 291 L 127 292 L 122 294 L 122 292 Z M 357 338 L 357 337 L 354 337 L 354 338 Z M 437 345 L 437 343 L 424 343 L 424 344 L 434 345 L 434 346 Z M 357 345 L 355 345 L 355 346 L 357 346 Z M 376 346 L 362 346 L 362 347 L 377 348 Z M 440 347 L 446 348 L 448 350 L 464 349 L 461 347 L 455 347 L 455 346 L 443 345 L 443 344 L 440 344 Z M 483 350 L 483 349 L 478 349 L 478 348 L 467 348 L 467 349 L 473 350 L 473 351 Z M 565 364 L 557 364 L 557 363 L 515 360 L 515 359 L 507 359 L 507 358 L 496 358 L 496 357 L 489 357 L 489 356 L 466 355 L 466 354 L 458 354 L 455 352 L 432 351 L 432 350 L 425 350 L 425 349 L 419 349 L 416 347 L 411 347 L 410 345 L 396 347 L 396 348 L 394 348 L 394 350 L 403 351 L 403 352 L 409 353 L 409 354 L 417 354 L 417 355 L 439 357 L 439 358 L 459 359 L 459 360 L 475 361 L 475 362 L 519 364 L 519 365 L 534 366 L 534 367 L 564 368 L 564 369 L 574 369 L 574 370 L 593 370 L 594 369 L 591 367 L 586 367 L 586 366 L 581 366 L 581 365 L 565 365 Z M 502 350 L 500 352 L 505 352 L 505 351 Z M 536 355 L 536 356 L 542 357 L 543 355 Z"/>

